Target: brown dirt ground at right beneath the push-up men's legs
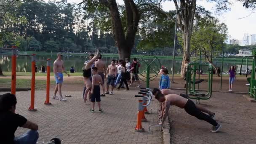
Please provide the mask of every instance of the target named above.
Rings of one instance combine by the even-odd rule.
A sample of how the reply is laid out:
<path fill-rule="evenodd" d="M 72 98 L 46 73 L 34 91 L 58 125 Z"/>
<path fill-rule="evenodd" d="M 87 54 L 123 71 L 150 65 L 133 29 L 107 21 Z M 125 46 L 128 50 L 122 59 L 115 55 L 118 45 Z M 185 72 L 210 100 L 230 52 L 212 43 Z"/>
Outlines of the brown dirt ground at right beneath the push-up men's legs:
<path fill-rule="evenodd" d="M 204 107 L 216 113 L 222 125 L 218 133 L 210 132 L 211 124 L 188 115 L 184 109 L 171 107 L 172 144 L 254 144 L 256 133 L 256 107 L 242 94 L 213 93 Z"/>

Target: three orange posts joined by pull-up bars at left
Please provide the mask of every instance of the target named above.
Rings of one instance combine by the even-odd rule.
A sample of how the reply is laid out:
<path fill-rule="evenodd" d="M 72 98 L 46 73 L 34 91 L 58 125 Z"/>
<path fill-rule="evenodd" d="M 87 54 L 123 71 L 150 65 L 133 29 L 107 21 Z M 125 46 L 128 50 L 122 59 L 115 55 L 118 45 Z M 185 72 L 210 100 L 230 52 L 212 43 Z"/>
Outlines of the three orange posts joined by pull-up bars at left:
<path fill-rule="evenodd" d="M 35 109 L 35 64 L 36 61 L 47 61 L 47 85 L 46 85 L 46 101 L 45 104 L 50 103 L 50 72 L 51 72 L 51 59 L 47 60 L 36 60 L 36 54 L 32 53 L 32 55 L 28 54 L 17 54 L 17 47 L 12 46 L 11 48 L 0 48 L 5 50 L 12 51 L 12 74 L 11 74 L 11 93 L 16 94 L 16 59 L 17 56 L 30 56 L 31 57 L 31 96 L 30 96 L 30 106 L 29 111 L 37 111 Z"/>

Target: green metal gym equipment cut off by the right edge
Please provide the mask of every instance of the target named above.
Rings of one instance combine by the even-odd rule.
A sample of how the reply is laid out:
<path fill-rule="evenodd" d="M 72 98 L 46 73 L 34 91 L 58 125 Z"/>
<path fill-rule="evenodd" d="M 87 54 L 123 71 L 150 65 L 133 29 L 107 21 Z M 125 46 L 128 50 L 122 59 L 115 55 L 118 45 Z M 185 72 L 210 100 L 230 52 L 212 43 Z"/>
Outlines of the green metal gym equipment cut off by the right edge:
<path fill-rule="evenodd" d="M 251 77 L 248 77 L 247 80 L 249 82 L 248 95 L 256 100 L 256 80 L 255 80 L 255 67 L 256 67 L 256 56 L 244 56 L 242 59 L 242 64 L 240 67 L 240 75 L 242 73 L 243 60 L 246 58 L 246 77 L 248 73 L 248 58 L 252 58 L 253 66 L 251 71 Z"/>

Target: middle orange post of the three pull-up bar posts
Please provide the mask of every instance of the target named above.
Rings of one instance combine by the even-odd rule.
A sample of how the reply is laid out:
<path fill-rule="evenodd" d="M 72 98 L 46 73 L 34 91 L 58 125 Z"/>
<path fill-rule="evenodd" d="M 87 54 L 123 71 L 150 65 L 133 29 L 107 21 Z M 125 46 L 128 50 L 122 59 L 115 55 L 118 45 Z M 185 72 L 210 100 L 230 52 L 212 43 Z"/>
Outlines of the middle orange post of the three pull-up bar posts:
<path fill-rule="evenodd" d="M 32 78 L 31 78 L 31 99 L 30 99 L 30 107 L 29 111 L 37 111 L 35 109 L 35 53 L 32 53 L 31 67 L 32 67 Z"/>

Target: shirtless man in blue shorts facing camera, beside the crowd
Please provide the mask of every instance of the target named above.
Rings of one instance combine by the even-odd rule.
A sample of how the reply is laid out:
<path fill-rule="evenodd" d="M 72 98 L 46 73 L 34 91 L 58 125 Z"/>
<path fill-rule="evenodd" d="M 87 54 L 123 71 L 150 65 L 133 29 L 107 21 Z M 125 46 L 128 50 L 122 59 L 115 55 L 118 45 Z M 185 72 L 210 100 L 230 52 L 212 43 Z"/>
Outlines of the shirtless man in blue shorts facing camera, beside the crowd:
<path fill-rule="evenodd" d="M 117 68 L 115 67 L 115 60 L 111 61 L 111 64 L 107 67 L 107 92 L 105 94 L 113 94 L 115 87 L 115 77 L 117 76 Z M 109 93 L 109 84 L 111 84 L 111 92 Z"/>

